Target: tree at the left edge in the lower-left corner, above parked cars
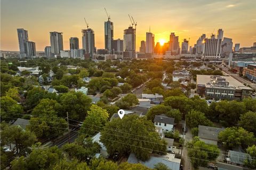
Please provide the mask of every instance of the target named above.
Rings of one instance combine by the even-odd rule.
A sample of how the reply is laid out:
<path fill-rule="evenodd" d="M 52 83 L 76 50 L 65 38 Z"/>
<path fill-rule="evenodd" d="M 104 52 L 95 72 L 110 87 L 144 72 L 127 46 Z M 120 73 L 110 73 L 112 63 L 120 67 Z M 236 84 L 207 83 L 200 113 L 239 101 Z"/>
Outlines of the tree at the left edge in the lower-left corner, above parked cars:
<path fill-rule="evenodd" d="M 24 131 L 19 126 L 5 126 L 1 131 L 1 144 L 15 145 L 17 153 L 30 147 L 36 142 L 36 135 L 30 131 Z"/>

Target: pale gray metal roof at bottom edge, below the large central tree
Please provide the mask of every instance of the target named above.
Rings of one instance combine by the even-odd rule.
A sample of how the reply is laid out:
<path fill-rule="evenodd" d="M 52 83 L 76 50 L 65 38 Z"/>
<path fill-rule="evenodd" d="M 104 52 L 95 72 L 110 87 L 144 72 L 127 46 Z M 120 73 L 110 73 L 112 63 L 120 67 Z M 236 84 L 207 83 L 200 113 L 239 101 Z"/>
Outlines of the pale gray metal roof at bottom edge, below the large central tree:
<path fill-rule="evenodd" d="M 154 168 L 154 165 L 157 163 L 163 163 L 167 167 L 170 167 L 172 170 L 179 170 L 180 169 L 180 161 L 181 159 L 173 158 L 173 154 L 167 153 L 166 156 L 151 156 L 147 161 L 139 160 L 135 157 L 134 153 L 131 153 L 127 162 L 132 164 L 141 163 L 148 168 Z"/>

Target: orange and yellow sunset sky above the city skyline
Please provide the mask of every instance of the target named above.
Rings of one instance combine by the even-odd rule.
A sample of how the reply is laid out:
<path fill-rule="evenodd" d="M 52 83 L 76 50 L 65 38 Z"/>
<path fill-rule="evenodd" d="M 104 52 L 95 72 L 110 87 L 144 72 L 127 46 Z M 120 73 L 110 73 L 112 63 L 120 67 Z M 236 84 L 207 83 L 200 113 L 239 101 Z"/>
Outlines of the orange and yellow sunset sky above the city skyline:
<path fill-rule="evenodd" d="M 140 42 L 146 41 L 149 26 L 151 33 L 155 35 L 155 43 L 161 39 L 168 42 L 170 34 L 174 32 L 179 36 L 180 46 L 185 38 L 190 38 L 189 46 L 194 46 L 199 36 L 206 34 L 206 37 L 210 37 L 211 33 L 215 34 L 219 28 L 225 31 L 224 37 L 232 38 L 233 43 L 239 43 L 240 47 L 252 46 L 256 41 L 256 14 L 253 12 L 256 2 L 251 0 L 158 3 L 120 1 L 115 2 L 115 5 L 111 5 L 112 1 L 108 1 L 108 4 L 104 1 L 61 2 L 1 1 L 1 50 L 19 51 L 17 28 L 28 30 L 29 39 L 36 43 L 37 51 L 44 51 L 45 46 L 50 46 L 50 31 L 62 32 L 63 48 L 68 50 L 70 37 L 78 37 L 79 44 L 82 44 L 81 29 L 86 29 L 84 17 L 89 23 L 89 28 L 94 30 L 95 47 L 105 48 L 104 22 L 108 18 L 104 7 L 114 23 L 114 39 L 123 39 L 123 30 L 131 25 L 128 14 L 138 22 L 136 51 L 139 51 Z M 116 8 L 118 6 L 119 8 Z M 66 9 L 75 10 L 75 13 L 66 13 Z M 161 12 L 163 10 L 165 12 Z M 15 17 L 17 13 L 23 17 Z M 212 18 L 211 21 L 209 17 Z"/>

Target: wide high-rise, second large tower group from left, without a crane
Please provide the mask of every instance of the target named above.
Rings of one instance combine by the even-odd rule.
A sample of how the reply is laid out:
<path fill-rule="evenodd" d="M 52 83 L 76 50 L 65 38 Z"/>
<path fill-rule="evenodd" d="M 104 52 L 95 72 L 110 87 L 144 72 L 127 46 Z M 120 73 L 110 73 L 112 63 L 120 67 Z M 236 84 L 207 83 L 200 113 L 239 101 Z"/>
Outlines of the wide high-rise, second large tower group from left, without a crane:
<path fill-rule="evenodd" d="M 63 51 L 62 34 L 63 33 L 58 33 L 57 31 L 50 32 L 52 54 L 60 54 L 60 51 Z"/>

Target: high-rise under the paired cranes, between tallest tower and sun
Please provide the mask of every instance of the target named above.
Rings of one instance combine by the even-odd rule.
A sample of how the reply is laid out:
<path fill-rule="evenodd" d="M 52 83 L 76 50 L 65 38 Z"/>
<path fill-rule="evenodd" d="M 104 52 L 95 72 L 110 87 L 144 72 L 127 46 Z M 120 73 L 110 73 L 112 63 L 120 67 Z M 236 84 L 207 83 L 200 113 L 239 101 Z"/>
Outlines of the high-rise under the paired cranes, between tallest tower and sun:
<path fill-rule="evenodd" d="M 135 58 L 136 30 L 132 27 L 124 30 L 124 51 L 129 52 L 129 58 Z M 127 56 L 127 55 L 125 55 Z"/>

